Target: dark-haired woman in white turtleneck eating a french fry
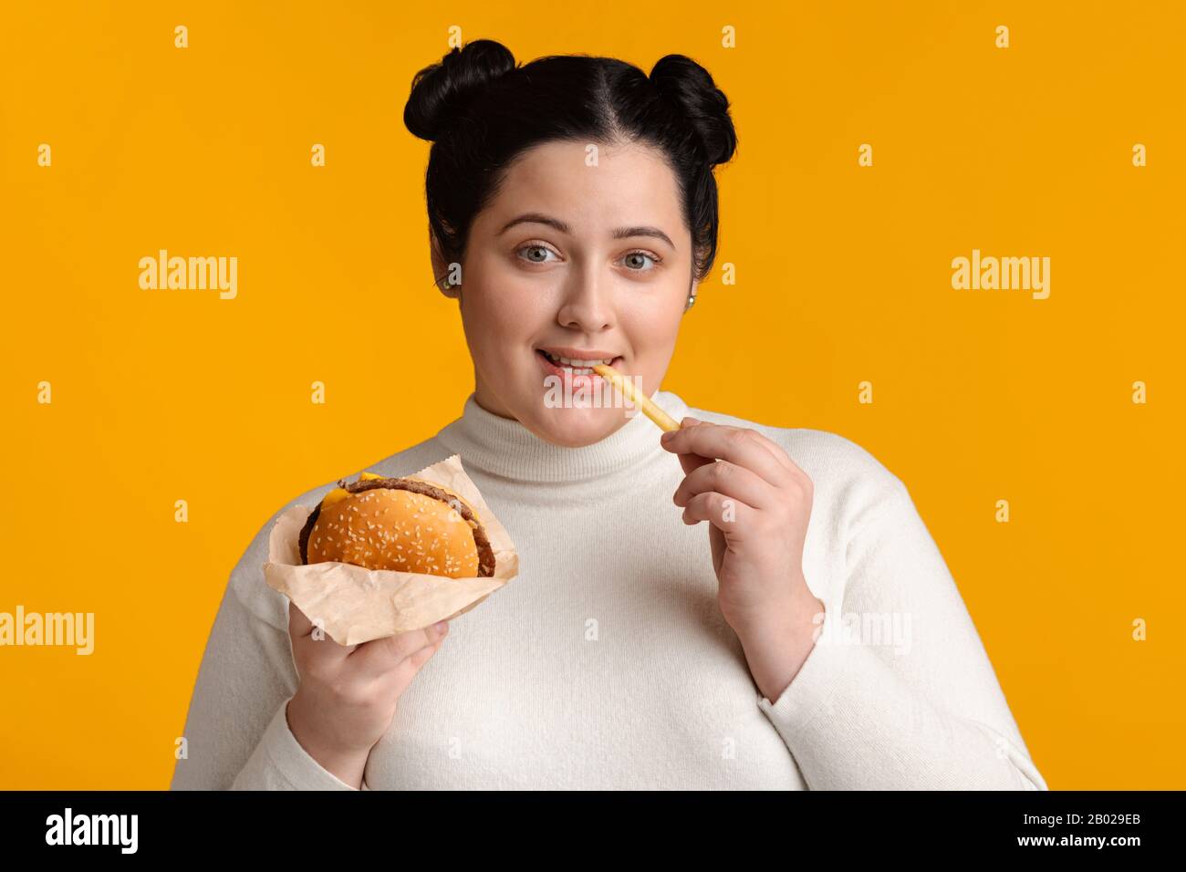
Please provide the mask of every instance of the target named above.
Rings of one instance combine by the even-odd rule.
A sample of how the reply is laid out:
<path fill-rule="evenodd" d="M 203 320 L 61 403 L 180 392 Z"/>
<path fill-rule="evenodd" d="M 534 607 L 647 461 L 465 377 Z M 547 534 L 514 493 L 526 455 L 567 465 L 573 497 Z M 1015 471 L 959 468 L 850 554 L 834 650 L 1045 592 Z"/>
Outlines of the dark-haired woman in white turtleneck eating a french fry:
<path fill-rule="evenodd" d="M 404 121 L 433 142 L 432 262 L 474 390 L 365 469 L 459 454 L 521 572 L 452 628 L 343 647 L 264 584 L 273 516 L 173 788 L 1046 789 L 903 483 L 840 435 L 658 389 L 737 145 L 709 74 L 478 40 L 417 74 Z M 681 429 L 549 401 L 605 359 Z"/>

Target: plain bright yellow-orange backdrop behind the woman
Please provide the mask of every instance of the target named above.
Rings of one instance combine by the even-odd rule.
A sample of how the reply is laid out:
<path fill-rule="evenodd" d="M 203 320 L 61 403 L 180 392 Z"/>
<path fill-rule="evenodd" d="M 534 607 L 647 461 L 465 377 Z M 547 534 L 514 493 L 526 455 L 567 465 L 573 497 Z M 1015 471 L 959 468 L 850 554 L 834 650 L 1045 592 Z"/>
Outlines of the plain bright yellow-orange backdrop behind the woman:
<path fill-rule="evenodd" d="M 402 123 L 451 25 L 521 62 L 649 71 L 680 52 L 710 70 L 740 139 L 719 171 L 718 270 L 738 284 L 702 286 L 663 387 L 843 434 L 907 484 L 1051 788 L 1186 787 L 1181 5 L 36 2 L 4 19 L 0 611 L 93 611 L 96 649 L 0 648 L 0 788 L 166 788 L 256 530 L 461 413 L 428 144 Z M 141 291 L 159 248 L 237 256 L 237 299 Z M 954 291 L 973 248 L 1050 256 L 1050 299 Z"/>

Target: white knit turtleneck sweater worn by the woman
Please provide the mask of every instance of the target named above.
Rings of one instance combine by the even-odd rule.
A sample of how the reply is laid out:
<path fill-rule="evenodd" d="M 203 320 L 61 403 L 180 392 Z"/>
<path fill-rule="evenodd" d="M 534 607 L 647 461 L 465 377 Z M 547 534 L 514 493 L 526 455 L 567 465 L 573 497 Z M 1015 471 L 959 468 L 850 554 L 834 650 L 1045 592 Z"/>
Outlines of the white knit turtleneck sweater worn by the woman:
<path fill-rule="evenodd" d="M 684 473 L 650 419 L 569 448 L 471 394 L 435 437 L 365 470 L 459 454 L 519 574 L 451 622 L 364 789 L 1046 789 L 893 473 L 833 433 L 652 399 L 677 421 L 758 429 L 811 478 L 803 569 L 830 619 L 798 674 L 774 701 L 757 689 L 716 605 L 708 522 L 683 523 Z M 281 507 L 231 572 L 172 789 L 351 789 L 288 728 L 288 600 L 261 569 L 276 516 L 333 486 Z"/>

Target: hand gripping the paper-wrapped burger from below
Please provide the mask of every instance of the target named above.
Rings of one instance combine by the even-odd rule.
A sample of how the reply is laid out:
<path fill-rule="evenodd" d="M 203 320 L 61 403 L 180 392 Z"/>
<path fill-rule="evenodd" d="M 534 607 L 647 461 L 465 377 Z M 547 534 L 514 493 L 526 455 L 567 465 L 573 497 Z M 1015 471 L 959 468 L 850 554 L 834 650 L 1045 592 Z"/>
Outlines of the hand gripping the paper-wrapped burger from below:
<path fill-rule="evenodd" d="M 436 626 L 441 626 L 438 630 Z M 370 750 L 395 717 L 400 695 L 448 632 L 441 622 L 357 645 L 339 645 L 288 603 L 288 635 L 300 683 L 288 702 L 288 728 L 323 769 L 362 787 Z"/>

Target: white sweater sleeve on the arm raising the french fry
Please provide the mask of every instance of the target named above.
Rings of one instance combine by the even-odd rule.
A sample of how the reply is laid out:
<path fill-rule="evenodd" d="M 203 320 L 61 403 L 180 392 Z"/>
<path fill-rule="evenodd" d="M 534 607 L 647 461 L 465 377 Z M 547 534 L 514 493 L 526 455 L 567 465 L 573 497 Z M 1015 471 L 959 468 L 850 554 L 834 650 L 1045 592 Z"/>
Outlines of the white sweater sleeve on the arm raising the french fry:
<path fill-rule="evenodd" d="M 955 581 L 901 482 L 847 537 L 798 674 L 758 706 L 812 790 L 1046 790 Z"/>

